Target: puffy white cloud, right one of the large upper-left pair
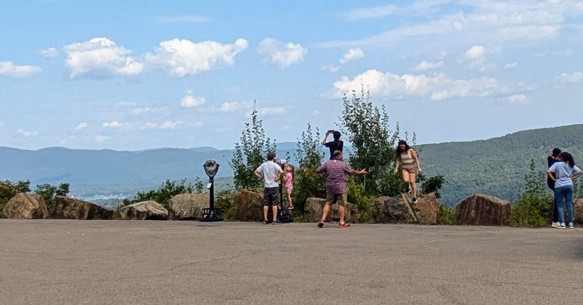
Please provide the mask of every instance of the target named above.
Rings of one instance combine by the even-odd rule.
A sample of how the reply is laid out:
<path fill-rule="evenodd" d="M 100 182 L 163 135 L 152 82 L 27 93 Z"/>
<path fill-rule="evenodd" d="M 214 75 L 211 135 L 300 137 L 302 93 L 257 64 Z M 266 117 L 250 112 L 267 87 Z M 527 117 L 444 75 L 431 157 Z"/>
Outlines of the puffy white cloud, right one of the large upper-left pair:
<path fill-rule="evenodd" d="M 216 41 L 194 43 L 174 38 L 162 41 L 153 53 L 145 55 L 146 62 L 166 69 L 171 75 L 183 77 L 209 71 L 216 65 L 233 65 L 238 53 L 247 50 L 247 40 L 237 39 L 233 44 Z"/>

